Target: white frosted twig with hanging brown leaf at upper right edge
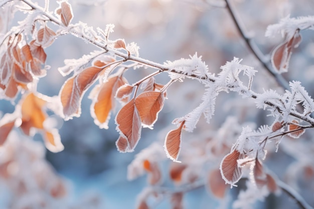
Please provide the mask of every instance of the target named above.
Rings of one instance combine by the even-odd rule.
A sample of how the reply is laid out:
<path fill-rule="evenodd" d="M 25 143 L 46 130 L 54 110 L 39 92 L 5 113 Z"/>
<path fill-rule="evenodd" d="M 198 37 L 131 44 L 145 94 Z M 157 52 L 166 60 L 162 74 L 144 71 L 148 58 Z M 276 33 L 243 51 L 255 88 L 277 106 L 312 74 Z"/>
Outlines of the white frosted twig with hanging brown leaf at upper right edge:
<path fill-rule="evenodd" d="M 292 50 L 297 48 L 301 42 L 301 30 L 314 30 L 314 16 L 281 19 L 278 24 L 270 25 L 266 30 L 266 37 L 272 37 L 278 33 L 285 38 L 284 42 L 278 45 L 271 56 L 271 63 L 277 73 L 288 71 L 289 60 Z"/>

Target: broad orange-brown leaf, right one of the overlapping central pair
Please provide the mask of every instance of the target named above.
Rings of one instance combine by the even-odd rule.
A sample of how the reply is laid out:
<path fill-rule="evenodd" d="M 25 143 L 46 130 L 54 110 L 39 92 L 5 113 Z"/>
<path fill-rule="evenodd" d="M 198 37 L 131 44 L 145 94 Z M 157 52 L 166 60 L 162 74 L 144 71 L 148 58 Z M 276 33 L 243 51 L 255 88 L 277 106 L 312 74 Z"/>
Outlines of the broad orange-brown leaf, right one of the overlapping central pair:
<path fill-rule="evenodd" d="M 138 95 L 135 99 L 135 106 L 139 112 L 142 124 L 152 126 L 158 113 L 164 106 L 164 94 L 156 91 L 146 91 Z"/>

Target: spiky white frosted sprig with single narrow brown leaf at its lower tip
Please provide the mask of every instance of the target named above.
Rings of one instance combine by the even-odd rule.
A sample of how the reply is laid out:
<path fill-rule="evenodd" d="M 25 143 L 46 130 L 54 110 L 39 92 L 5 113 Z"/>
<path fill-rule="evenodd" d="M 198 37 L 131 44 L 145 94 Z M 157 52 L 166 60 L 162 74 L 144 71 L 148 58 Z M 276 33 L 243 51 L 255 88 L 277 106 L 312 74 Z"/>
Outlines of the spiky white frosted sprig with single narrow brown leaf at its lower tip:
<path fill-rule="evenodd" d="M 242 72 L 248 76 L 251 82 L 256 71 L 249 66 L 240 64 L 240 62 L 241 60 L 238 58 L 227 62 L 226 65 L 221 67 L 222 71 L 218 74 L 218 77 L 214 78 L 215 82 L 203 81 L 207 89 L 202 97 L 202 103 L 186 116 L 173 121 L 174 124 L 178 124 L 178 128 L 170 131 L 165 141 L 166 153 L 170 159 L 178 160 L 183 129 L 193 132 L 202 114 L 204 114 L 207 122 L 210 122 L 211 117 L 214 115 L 216 97 L 219 92 L 228 92 L 230 90 L 239 92 L 243 97 L 251 96 L 249 85 L 245 86 L 240 81 L 239 75 Z"/>

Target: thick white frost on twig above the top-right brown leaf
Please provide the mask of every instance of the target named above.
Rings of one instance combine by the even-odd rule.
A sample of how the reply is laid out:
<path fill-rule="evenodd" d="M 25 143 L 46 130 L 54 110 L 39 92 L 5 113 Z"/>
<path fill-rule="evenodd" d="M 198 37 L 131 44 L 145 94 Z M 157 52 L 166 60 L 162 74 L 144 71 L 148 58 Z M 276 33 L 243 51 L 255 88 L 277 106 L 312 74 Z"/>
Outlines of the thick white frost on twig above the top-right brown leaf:
<path fill-rule="evenodd" d="M 289 40 L 293 37 L 297 30 L 314 30 L 314 16 L 290 18 L 287 16 L 280 20 L 278 24 L 273 24 L 267 27 L 265 36 L 272 37 L 278 33 L 282 37 L 286 35 L 286 39 Z"/>

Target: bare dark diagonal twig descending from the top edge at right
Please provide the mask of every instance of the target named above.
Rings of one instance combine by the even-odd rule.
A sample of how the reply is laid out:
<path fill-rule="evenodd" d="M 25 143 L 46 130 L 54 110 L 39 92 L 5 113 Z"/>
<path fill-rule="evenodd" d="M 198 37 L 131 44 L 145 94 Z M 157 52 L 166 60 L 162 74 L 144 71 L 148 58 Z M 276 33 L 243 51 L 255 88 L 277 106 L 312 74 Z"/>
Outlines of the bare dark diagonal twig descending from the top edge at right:
<path fill-rule="evenodd" d="M 244 31 L 244 27 L 241 26 L 240 19 L 236 16 L 232 6 L 230 5 L 229 0 L 225 0 L 225 1 L 226 1 L 226 8 L 227 8 L 229 14 L 231 15 L 231 18 L 232 18 L 236 28 L 238 29 L 239 33 L 241 34 L 241 37 L 244 39 L 249 50 L 259 60 L 259 62 L 264 66 L 264 68 L 276 79 L 276 81 L 278 82 L 278 84 L 281 87 L 283 87 L 284 89 L 289 89 L 288 82 L 280 74 L 277 74 L 273 70 L 273 68 L 269 62 L 269 59 L 265 58 L 265 55 L 260 51 L 258 46 L 255 44 L 254 40 L 246 35 L 246 33 Z"/>

